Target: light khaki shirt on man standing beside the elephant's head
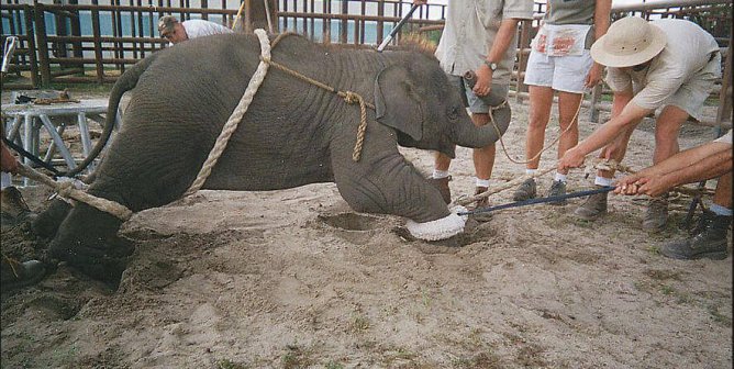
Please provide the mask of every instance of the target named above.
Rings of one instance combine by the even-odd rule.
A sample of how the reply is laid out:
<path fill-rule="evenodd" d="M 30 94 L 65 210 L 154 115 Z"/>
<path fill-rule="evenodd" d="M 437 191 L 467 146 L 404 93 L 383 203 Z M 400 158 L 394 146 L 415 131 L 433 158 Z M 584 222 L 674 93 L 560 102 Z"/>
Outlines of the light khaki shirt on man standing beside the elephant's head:
<path fill-rule="evenodd" d="M 533 19 L 533 0 L 451 0 L 446 24 L 438 42 L 436 57 L 444 71 L 463 76 L 477 70 L 487 58 L 500 22 L 505 19 Z M 515 33 L 510 47 L 498 60 L 492 83 L 509 85 L 518 48 Z"/>

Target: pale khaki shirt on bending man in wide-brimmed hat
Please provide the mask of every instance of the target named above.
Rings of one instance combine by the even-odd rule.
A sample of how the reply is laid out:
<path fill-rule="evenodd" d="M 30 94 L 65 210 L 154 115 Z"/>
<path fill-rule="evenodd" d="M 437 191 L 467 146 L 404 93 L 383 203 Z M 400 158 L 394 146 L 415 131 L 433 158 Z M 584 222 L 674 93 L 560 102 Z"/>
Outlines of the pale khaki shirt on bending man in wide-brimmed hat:
<path fill-rule="evenodd" d="M 712 53 L 719 52 L 713 36 L 693 22 L 665 19 L 652 24 L 660 27 L 668 38 L 663 52 L 641 71 L 609 68 L 605 79 L 612 91 L 624 91 L 632 86 L 635 92 L 632 101 L 643 109 L 663 107 L 679 89 L 707 78 L 702 74 L 710 74 L 707 66 Z"/>

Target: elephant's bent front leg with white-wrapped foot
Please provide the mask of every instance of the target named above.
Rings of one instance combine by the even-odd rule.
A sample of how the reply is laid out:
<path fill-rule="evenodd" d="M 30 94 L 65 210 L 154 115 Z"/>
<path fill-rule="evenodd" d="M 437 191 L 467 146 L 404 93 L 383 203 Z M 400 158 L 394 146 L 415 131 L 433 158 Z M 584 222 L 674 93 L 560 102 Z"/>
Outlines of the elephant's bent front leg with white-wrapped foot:
<path fill-rule="evenodd" d="M 334 179 L 354 210 L 408 217 L 408 230 L 416 238 L 438 241 L 464 231 L 465 217 L 449 211 L 438 189 L 397 148 L 391 156 L 334 165 Z"/>

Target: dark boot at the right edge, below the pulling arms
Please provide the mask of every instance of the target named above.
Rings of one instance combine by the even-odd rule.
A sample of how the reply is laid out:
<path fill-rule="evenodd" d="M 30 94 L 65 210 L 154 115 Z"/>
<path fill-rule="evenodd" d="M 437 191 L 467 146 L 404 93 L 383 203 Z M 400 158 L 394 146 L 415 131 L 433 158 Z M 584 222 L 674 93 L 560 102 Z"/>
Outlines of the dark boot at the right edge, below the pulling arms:
<path fill-rule="evenodd" d="M 731 225 L 731 215 L 716 215 L 705 211 L 701 214 L 699 227 L 693 236 L 663 246 L 660 254 L 674 259 L 725 259 L 729 256 L 726 232 Z"/>

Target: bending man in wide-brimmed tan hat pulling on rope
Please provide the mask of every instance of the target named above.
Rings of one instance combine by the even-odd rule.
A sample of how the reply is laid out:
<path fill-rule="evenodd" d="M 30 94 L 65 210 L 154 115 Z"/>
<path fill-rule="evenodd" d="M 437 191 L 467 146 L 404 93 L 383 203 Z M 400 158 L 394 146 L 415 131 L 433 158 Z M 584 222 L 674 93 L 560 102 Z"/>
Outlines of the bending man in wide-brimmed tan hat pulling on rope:
<path fill-rule="evenodd" d="M 601 147 L 600 157 L 621 161 L 635 126 L 658 108 L 663 109 L 655 122 L 653 163 L 675 155 L 680 126 L 689 116 L 700 120 L 703 102 L 721 77 L 716 41 L 685 20 L 621 19 L 591 46 L 591 57 L 609 67 L 605 80 L 614 92 L 612 118 L 566 152 L 559 170 L 581 166 L 587 154 Z M 610 186 L 612 177 L 613 172 L 599 171 L 594 182 Z M 607 193 L 602 193 L 589 197 L 575 214 L 594 220 L 605 212 Z M 667 195 L 652 198 L 643 227 L 659 231 L 667 215 Z"/>

